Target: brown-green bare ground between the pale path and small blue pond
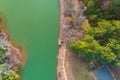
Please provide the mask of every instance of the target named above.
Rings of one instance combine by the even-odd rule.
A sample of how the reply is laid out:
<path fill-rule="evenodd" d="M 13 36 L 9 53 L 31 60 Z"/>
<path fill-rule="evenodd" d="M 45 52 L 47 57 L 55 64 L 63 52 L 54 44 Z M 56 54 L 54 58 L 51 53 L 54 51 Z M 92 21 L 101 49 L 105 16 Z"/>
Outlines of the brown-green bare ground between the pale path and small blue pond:
<path fill-rule="evenodd" d="M 70 50 L 67 51 L 65 59 L 68 80 L 94 80 L 84 59 L 75 56 Z"/>

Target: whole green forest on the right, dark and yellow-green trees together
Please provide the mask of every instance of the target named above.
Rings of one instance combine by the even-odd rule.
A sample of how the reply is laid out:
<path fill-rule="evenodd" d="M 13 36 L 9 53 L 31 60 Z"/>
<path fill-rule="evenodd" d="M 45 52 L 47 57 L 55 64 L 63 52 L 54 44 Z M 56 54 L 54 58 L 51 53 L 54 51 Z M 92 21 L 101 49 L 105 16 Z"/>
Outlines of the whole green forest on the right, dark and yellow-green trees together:
<path fill-rule="evenodd" d="M 84 13 L 90 26 L 85 27 L 81 40 L 68 47 L 88 62 L 97 61 L 109 66 L 120 66 L 120 1 L 83 0 Z"/>

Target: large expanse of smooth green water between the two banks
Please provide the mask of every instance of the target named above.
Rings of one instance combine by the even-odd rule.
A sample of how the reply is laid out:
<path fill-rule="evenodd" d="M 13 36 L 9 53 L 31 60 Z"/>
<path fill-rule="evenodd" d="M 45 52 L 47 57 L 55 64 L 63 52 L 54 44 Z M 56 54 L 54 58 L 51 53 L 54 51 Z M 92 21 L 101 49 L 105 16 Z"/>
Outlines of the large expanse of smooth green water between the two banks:
<path fill-rule="evenodd" d="M 22 80 L 56 80 L 58 0 L 0 0 L 10 37 L 27 50 Z"/>

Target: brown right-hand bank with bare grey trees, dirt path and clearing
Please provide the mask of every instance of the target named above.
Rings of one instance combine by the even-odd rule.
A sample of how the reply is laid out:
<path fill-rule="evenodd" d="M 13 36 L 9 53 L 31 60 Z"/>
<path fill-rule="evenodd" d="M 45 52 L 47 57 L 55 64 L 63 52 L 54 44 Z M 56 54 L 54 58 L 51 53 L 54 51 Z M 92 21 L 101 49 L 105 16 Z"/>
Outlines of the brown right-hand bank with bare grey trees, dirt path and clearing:
<path fill-rule="evenodd" d="M 73 9 L 75 9 L 75 12 L 73 12 Z M 84 67 L 81 68 L 81 64 L 77 64 L 76 62 L 74 62 L 79 62 L 80 59 L 75 59 L 75 55 L 72 55 L 72 52 L 67 48 L 67 44 L 69 42 L 74 42 L 83 37 L 84 29 L 82 29 L 82 23 L 85 21 L 86 18 L 84 16 L 85 10 L 86 7 L 81 1 L 60 0 L 57 80 L 79 80 L 80 77 L 78 76 L 80 75 L 76 74 L 76 69 L 83 72 L 85 71 L 85 73 L 83 73 L 81 76 L 82 78 L 93 80 L 92 74 L 91 72 L 87 72 L 85 64 L 82 64 Z M 73 61 L 70 62 L 71 60 Z M 76 69 L 75 65 L 77 66 Z M 85 77 L 86 73 L 87 75 L 89 75 L 89 77 L 87 78 Z"/>

